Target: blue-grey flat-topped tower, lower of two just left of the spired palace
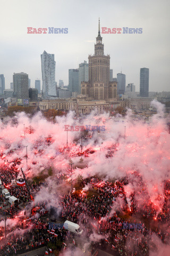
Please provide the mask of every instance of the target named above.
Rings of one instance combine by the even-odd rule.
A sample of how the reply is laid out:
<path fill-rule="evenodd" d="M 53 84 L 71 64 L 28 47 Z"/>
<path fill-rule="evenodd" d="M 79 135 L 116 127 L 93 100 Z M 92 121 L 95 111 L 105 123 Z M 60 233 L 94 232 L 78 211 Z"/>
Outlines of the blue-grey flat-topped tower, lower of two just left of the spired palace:
<path fill-rule="evenodd" d="M 69 69 L 69 91 L 79 92 L 79 69 Z"/>

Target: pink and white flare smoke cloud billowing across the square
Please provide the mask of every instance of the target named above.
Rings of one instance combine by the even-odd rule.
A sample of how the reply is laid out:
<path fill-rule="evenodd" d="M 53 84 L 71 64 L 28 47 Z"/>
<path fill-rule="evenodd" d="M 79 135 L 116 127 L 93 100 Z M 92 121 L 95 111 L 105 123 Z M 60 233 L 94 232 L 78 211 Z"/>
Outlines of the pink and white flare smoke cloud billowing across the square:
<path fill-rule="evenodd" d="M 109 117 L 109 114 L 97 115 L 92 112 L 86 117 L 75 119 L 75 113 L 56 117 L 56 122 L 48 122 L 39 112 L 32 118 L 24 113 L 16 113 L 17 125 L 8 122 L 7 126 L 0 124 L 0 165 L 7 159 L 12 164 L 15 158 L 21 158 L 21 165 L 28 178 L 37 176 L 42 170 L 53 169 L 53 174 L 59 172 L 68 174 L 69 159 L 74 162 L 73 178 L 81 174 L 84 178 L 98 175 L 105 180 L 115 180 L 128 177 L 129 185 L 125 187 L 127 200 L 135 191 L 138 205 L 144 204 L 141 186 L 145 187 L 148 198 L 156 205 L 157 213 L 162 211 L 164 202 L 164 181 L 170 179 L 169 145 L 170 135 L 167 129 L 167 119 L 164 117 L 164 106 L 152 102 L 157 114 L 149 123 L 133 120 L 131 110 L 122 117 Z M 66 131 L 64 125 L 105 125 L 104 132 L 89 132 L 83 137 L 83 151 L 94 150 L 95 153 L 85 157 L 78 156 L 81 152 L 80 143 L 82 131 L 68 132 L 69 151 L 66 146 Z M 25 138 L 24 126 L 25 125 Z M 28 127 L 33 132 L 28 132 Z M 126 134 L 124 138 L 124 126 Z M 51 138 L 50 144 L 46 138 Z M 28 150 L 28 171 L 26 170 L 26 146 Z M 113 157 L 106 157 L 112 151 Z M 64 154 L 63 154 L 64 153 Z M 77 167 L 80 158 L 83 168 Z M 137 172 L 138 175 L 134 175 Z M 21 177 L 21 172 L 19 177 Z M 53 186 L 53 185 L 51 185 Z M 42 192 L 43 193 L 43 192 Z M 40 194 L 37 195 L 38 200 Z M 49 195 L 47 193 L 47 197 Z M 44 195 L 42 197 L 44 198 Z M 47 199 L 48 199 L 47 198 Z M 158 199 L 159 198 L 159 199 Z"/>

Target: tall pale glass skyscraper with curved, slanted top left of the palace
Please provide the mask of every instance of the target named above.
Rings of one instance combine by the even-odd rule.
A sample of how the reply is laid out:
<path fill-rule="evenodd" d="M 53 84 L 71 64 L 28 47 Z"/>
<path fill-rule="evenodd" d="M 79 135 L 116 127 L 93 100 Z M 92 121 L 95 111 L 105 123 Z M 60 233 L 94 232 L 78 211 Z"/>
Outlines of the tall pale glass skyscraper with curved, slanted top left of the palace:
<path fill-rule="evenodd" d="M 43 78 L 43 98 L 55 97 L 55 60 L 54 54 L 46 51 L 41 54 L 41 70 Z"/>

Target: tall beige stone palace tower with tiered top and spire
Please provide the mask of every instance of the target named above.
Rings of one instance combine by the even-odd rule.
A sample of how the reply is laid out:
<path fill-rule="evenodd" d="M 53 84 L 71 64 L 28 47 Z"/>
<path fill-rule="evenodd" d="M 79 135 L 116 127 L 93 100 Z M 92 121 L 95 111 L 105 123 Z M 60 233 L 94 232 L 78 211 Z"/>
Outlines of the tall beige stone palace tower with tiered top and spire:
<path fill-rule="evenodd" d="M 117 83 L 109 81 L 110 56 L 104 55 L 104 44 L 100 36 L 100 20 L 96 37 L 95 54 L 89 55 L 89 81 L 81 83 L 81 94 L 95 100 L 116 99 Z"/>

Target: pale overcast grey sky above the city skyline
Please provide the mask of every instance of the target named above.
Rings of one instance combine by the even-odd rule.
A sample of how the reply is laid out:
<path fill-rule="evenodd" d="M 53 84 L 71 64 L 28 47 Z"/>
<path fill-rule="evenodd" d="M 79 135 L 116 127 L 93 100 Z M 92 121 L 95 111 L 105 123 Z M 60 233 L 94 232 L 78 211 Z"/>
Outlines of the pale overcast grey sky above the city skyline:
<path fill-rule="evenodd" d="M 140 68 L 149 68 L 149 91 L 170 91 L 169 0 L 0 0 L 0 74 L 10 87 L 13 73 L 25 72 L 35 87 L 40 54 L 55 54 L 56 81 L 68 84 L 69 69 L 88 61 L 100 27 L 142 28 L 142 34 L 101 34 L 111 56 L 113 77 L 139 91 Z M 27 34 L 27 27 L 68 28 L 68 34 Z"/>

